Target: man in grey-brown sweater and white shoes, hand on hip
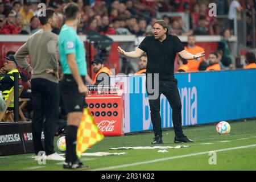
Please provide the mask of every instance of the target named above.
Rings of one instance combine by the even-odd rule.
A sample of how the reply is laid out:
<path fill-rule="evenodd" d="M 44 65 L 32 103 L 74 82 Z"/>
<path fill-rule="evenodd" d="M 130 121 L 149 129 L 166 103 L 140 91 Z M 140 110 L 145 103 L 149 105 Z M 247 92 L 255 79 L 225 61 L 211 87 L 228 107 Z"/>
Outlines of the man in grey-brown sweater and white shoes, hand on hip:
<path fill-rule="evenodd" d="M 48 160 L 65 160 L 54 151 L 53 139 L 58 120 L 59 106 L 59 64 L 57 60 L 57 35 L 52 28 L 58 19 L 54 10 L 47 9 L 46 16 L 39 17 L 42 29 L 30 36 L 14 55 L 19 67 L 32 73 L 31 90 L 33 96 L 32 135 L 36 154 L 45 151 Z M 30 55 L 31 66 L 25 57 Z M 44 147 L 42 144 L 44 131 Z"/>

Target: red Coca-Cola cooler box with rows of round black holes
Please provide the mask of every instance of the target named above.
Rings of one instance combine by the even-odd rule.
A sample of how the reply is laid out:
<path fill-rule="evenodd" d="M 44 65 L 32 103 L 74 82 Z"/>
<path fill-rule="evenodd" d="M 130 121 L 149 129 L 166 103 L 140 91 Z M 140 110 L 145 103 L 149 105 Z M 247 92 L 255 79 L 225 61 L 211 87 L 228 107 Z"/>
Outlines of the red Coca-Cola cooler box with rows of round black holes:
<path fill-rule="evenodd" d="M 92 94 L 86 102 L 104 136 L 123 136 L 123 94 Z"/>

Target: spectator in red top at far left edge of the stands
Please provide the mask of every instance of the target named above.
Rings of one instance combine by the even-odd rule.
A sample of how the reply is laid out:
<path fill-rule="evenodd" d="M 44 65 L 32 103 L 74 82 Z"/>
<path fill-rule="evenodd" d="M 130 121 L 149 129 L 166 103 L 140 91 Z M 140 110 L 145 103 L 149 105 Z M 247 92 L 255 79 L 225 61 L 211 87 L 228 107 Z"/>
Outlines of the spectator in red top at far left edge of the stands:
<path fill-rule="evenodd" d="M 21 27 L 16 26 L 16 18 L 13 12 L 9 11 L 6 14 L 6 23 L 0 30 L 0 34 L 19 34 Z"/>

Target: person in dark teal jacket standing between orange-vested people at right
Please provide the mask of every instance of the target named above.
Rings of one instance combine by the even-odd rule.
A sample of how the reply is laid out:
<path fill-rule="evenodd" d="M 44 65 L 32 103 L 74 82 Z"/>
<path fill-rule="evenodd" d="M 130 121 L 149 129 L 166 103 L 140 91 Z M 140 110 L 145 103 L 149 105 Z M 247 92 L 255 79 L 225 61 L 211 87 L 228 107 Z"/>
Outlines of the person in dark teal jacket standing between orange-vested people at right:
<path fill-rule="evenodd" d="M 231 49 L 230 49 L 230 30 L 226 29 L 224 32 L 222 32 L 223 38 L 221 39 L 221 42 L 218 43 L 218 49 L 222 50 L 223 57 L 222 57 L 222 64 L 225 67 L 229 67 L 230 69 L 234 68 L 234 65 L 232 64 L 232 55 L 231 55 Z"/>

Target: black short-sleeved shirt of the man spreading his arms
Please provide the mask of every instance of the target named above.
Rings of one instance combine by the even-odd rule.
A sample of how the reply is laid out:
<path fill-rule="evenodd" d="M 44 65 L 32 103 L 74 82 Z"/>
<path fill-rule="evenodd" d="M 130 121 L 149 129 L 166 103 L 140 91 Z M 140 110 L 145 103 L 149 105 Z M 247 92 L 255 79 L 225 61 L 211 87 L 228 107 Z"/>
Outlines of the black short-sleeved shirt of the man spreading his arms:
<path fill-rule="evenodd" d="M 159 80 L 174 80 L 174 61 L 176 53 L 183 51 L 184 46 L 175 35 L 168 35 L 163 42 L 154 36 L 147 36 L 139 44 L 139 48 L 147 53 L 146 73 L 159 73 Z"/>

